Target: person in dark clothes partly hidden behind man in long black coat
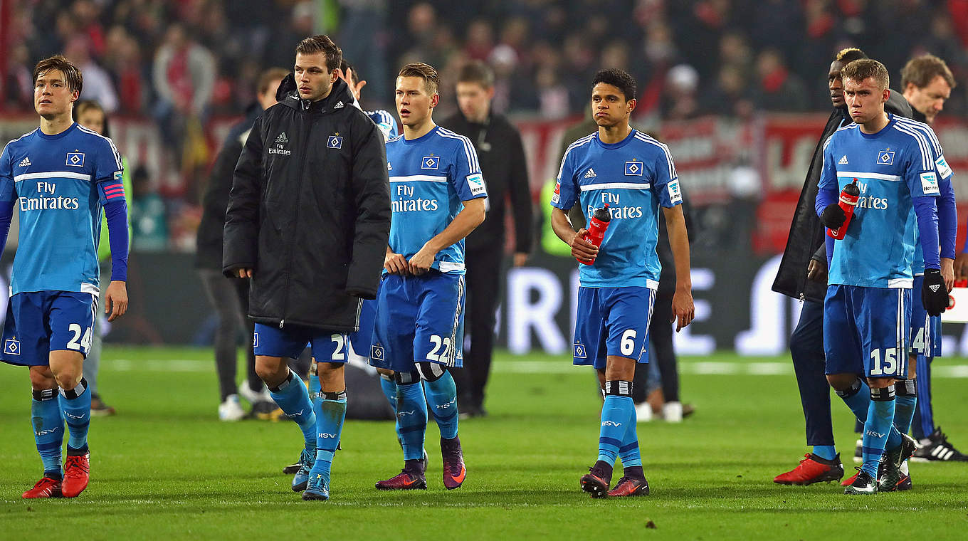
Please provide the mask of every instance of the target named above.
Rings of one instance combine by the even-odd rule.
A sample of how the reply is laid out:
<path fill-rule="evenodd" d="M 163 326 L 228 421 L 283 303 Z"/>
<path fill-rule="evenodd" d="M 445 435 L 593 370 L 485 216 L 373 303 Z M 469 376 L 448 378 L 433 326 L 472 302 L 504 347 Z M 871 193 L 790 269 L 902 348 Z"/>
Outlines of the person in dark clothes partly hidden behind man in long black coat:
<path fill-rule="evenodd" d="M 256 373 L 256 354 L 252 347 L 255 323 L 246 317 L 249 313 L 249 279 L 223 276 L 222 243 L 235 164 L 242 154 L 242 146 L 256 118 L 264 109 L 276 105 L 276 89 L 287 74 L 287 70 L 282 68 L 270 68 L 259 75 L 257 102 L 249 107 L 245 120 L 228 131 L 222 150 L 212 165 L 212 173 L 202 200 L 195 266 L 201 285 L 218 318 L 218 327 L 215 330 L 215 370 L 219 376 L 219 419 L 222 421 L 238 421 L 245 416 L 239 403 L 239 387 L 235 382 L 238 366 L 236 343 L 240 333 L 246 337 L 246 367 L 249 377 L 242 387 L 242 396 L 252 405 L 252 414 L 258 418 L 266 418 L 276 409 L 268 389 Z"/>

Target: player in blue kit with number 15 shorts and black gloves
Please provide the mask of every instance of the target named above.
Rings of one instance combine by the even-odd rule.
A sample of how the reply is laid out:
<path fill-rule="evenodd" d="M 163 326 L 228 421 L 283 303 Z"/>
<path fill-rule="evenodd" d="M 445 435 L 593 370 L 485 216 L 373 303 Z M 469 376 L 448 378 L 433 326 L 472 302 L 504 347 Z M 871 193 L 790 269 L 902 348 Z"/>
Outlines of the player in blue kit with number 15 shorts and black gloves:
<path fill-rule="evenodd" d="M 911 264 L 917 242 L 924 259 L 921 296 L 927 314 L 945 310 L 948 290 L 938 254 L 937 157 L 926 135 L 933 133 L 926 125 L 885 112 L 891 91 L 880 62 L 855 60 L 841 75 L 855 123 L 838 129 L 825 144 L 817 215 L 823 225 L 837 229 L 846 220 L 837 194 L 856 183 L 860 198 L 844 238 L 828 243 L 824 349 L 831 386 L 864 423 L 863 466 L 845 493 L 870 495 L 879 490 L 877 470 L 885 449 L 880 490 L 888 491 L 915 450 L 914 440 L 893 421 L 894 381 L 908 376 Z"/>

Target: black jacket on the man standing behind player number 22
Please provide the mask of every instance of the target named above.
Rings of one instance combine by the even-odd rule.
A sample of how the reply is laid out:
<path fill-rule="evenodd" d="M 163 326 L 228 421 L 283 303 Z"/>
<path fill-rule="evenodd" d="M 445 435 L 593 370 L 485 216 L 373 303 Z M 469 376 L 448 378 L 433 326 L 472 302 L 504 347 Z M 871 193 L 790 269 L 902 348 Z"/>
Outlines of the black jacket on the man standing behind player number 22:
<path fill-rule="evenodd" d="M 468 252 L 504 242 L 504 211 L 508 195 L 514 210 L 514 252 L 529 253 L 533 238 L 533 211 L 528 186 L 528 162 L 521 135 L 507 118 L 494 114 L 485 123 L 470 122 L 460 111 L 440 126 L 464 135 L 474 144 L 484 181 L 487 182 L 488 210 L 484 223 L 468 235 Z"/>

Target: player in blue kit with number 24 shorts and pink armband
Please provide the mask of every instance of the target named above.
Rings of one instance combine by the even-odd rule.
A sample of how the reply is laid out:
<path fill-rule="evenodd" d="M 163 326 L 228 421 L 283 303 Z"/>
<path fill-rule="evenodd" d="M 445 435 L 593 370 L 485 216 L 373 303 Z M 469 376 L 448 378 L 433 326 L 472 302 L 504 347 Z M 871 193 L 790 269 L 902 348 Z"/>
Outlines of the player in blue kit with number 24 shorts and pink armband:
<path fill-rule="evenodd" d="M 40 61 L 33 78 L 40 128 L 9 142 L 0 155 L 0 246 L 15 204 L 20 211 L 0 354 L 5 362 L 30 367 L 31 417 L 44 476 L 22 496 L 75 497 L 87 488 L 90 470 L 91 390 L 82 367 L 101 287 L 101 211 L 111 248 L 104 297 L 109 321 L 128 310 L 128 211 L 114 143 L 72 119 L 83 85 L 80 71 L 58 55 Z"/>

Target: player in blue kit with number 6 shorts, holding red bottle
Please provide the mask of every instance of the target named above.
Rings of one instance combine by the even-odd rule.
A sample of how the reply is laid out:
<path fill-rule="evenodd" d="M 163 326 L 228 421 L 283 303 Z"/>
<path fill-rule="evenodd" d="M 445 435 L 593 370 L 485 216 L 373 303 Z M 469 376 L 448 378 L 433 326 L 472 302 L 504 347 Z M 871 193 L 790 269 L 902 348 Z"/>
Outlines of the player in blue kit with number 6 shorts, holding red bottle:
<path fill-rule="evenodd" d="M 636 363 L 649 362 L 648 329 L 662 268 L 655 252 L 660 214 L 676 265 L 676 330 L 694 316 L 689 239 L 676 165 L 669 147 L 628 125 L 635 95 L 631 75 L 621 70 L 595 75 L 591 111 L 598 130 L 565 151 L 552 197 L 555 233 L 585 263 L 579 274 L 574 364 L 593 366 L 605 394 L 598 460 L 581 478 L 582 490 L 592 497 L 649 494 L 636 435 L 632 377 Z M 587 220 L 597 209 L 610 213 L 600 246 L 585 238 L 587 229 L 576 232 L 572 227 L 567 212 L 576 201 Z M 616 459 L 621 459 L 624 471 L 610 491 Z"/>

